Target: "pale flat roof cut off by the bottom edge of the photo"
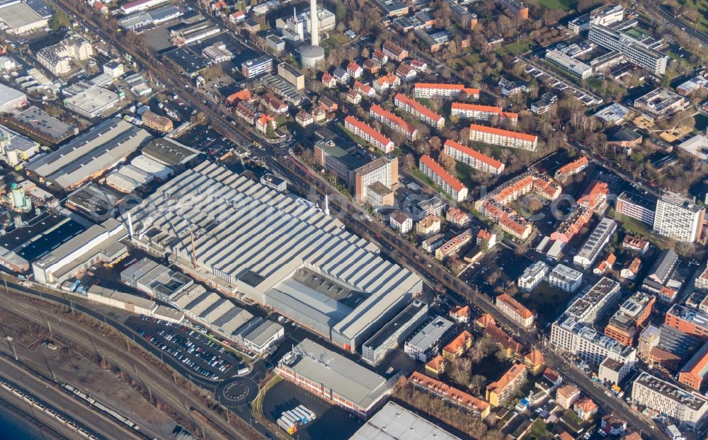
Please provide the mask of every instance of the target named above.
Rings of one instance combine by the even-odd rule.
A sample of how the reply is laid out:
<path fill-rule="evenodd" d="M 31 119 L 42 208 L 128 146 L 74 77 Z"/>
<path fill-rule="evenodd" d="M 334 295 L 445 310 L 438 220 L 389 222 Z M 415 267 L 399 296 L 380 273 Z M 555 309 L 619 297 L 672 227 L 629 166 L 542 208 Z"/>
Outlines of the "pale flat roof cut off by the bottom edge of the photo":
<path fill-rule="evenodd" d="M 459 437 L 389 402 L 349 440 L 459 440 Z"/>

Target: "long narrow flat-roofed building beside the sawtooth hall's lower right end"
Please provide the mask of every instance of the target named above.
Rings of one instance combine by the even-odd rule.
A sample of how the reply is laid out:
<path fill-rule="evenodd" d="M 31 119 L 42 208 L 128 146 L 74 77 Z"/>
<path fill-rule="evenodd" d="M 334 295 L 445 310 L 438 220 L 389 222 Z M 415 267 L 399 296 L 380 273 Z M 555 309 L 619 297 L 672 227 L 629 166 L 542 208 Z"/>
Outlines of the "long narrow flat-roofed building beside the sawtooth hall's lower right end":
<path fill-rule="evenodd" d="M 428 304 L 414 300 L 367 342 L 364 342 L 361 347 L 362 359 L 369 364 L 379 363 L 388 352 L 409 337 L 426 318 L 428 318 Z"/>

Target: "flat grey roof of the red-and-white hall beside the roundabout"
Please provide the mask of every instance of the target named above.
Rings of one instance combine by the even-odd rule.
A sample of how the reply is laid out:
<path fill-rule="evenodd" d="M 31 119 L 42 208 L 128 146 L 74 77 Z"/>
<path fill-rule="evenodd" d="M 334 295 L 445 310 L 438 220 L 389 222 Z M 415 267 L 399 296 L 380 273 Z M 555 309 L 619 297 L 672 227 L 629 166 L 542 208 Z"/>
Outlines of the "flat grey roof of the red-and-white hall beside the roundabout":
<path fill-rule="evenodd" d="M 292 370 L 330 388 L 359 407 L 369 408 L 394 384 L 309 339 L 300 342 L 293 350 L 299 354 L 299 359 L 290 367 Z"/>

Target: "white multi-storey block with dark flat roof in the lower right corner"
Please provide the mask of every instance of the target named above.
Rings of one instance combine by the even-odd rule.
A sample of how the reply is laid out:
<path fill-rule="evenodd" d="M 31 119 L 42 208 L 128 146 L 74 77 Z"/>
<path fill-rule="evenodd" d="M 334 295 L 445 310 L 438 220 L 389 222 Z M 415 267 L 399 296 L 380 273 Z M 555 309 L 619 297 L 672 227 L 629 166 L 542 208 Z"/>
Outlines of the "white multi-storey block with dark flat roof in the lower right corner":
<path fill-rule="evenodd" d="M 632 384 L 632 400 L 690 427 L 702 424 L 708 411 L 708 399 L 703 395 L 689 393 L 646 371 Z"/>

